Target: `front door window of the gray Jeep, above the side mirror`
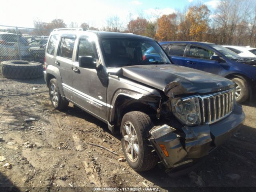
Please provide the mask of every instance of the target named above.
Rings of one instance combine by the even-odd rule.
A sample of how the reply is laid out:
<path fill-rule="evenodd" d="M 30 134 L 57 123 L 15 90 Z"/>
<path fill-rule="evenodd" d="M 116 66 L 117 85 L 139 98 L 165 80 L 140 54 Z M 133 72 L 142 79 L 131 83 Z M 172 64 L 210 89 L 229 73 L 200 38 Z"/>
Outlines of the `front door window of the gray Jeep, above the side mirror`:
<path fill-rule="evenodd" d="M 98 57 L 96 58 L 96 52 L 93 44 L 86 39 L 79 40 L 78 54 L 77 54 L 76 61 L 78 61 L 79 56 L 92 56 L 94 59 L 98 58 Z"/>

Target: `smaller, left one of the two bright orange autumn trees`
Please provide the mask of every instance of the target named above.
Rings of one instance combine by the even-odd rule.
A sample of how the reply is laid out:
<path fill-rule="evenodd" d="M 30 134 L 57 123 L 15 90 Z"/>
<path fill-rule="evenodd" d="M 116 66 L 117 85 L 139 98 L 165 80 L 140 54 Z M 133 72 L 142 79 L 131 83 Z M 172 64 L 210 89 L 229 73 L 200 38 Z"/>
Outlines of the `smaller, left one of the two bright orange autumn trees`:
<path fill-rule="evenodd" d="M 158 29 L 155 38 L 158 41 L 176 40 L 177 27 L 177 15 L 175 13 L 162 15 L 158 19 Z"/>

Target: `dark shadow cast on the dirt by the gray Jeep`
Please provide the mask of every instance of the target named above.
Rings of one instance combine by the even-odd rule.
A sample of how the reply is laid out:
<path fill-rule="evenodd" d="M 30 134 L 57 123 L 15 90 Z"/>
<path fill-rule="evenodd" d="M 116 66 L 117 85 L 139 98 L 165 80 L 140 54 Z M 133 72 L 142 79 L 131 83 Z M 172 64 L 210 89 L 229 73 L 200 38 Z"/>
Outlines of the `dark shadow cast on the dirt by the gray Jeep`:
<path fill-rule="evenodd" d="M 108 126 L 79 108 L 69 107 L 63 113 L 82 118 L 96 124 L 111 134 Z M 209 154 L 208 158 L 187 174 L 170 177 L 164 168 L 157 165 L 149 171 L 138 172 L 155 186 L 168 191 L 230 191 L 231 187 L 256 187 L 256 128 L 242 126 L 240 131 L 222 146 Z M 118 140 L 120 134 L 112 135 Z M 248 178 L 248 175 L 250 177 Z M 236 178 L 237 177 L 237 178 Z M 239 182 L 238 182 L 239 181 Z M 247 191 L 251 189 L 248 188 Z"/>

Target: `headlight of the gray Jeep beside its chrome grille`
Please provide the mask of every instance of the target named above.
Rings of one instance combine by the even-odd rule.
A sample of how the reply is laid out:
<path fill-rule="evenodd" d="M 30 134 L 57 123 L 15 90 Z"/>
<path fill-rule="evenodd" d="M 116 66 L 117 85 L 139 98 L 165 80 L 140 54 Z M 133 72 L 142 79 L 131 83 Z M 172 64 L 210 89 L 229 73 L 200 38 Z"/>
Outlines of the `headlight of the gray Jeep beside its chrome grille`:
<path fill-rule="evenodd" d="M 182 100 L 173 98 L 171 101 L 173 114 L 186 125 L 201 123 L 200 106 L 198 98 Z"/>

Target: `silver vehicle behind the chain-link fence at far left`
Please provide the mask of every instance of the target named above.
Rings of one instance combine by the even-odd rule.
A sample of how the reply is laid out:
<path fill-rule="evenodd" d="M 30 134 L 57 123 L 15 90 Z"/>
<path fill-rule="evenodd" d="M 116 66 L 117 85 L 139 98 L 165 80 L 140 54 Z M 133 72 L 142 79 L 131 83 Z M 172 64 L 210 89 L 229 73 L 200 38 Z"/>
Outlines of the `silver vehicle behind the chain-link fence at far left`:
<path fill-rule="evenodd" d="M 32 61 L 34 58 L 29 52 L 28 42 L 19 36 L 20 53 L 18 48 L 17 34 L 0 32 L 0 61 L 4 60 L 22 60 Z"/>

